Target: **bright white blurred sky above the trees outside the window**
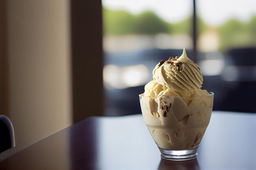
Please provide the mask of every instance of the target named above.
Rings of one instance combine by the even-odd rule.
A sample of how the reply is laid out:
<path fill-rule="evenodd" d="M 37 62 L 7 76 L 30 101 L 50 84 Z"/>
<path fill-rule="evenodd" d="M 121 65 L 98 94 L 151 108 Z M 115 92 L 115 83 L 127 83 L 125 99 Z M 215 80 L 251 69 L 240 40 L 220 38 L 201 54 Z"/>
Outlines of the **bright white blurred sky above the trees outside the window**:
<path fill-rule="evenodd" d="M 152 10 L 168 22 L 179 22 L 192 14 L 193 0 L 102 0 L 109 9 L 131 13 Z M 256 15 L 256 0 L 197 0 L 197 12 L 209 25 L 218 26 L 230 18 L 248 21 Z"/>

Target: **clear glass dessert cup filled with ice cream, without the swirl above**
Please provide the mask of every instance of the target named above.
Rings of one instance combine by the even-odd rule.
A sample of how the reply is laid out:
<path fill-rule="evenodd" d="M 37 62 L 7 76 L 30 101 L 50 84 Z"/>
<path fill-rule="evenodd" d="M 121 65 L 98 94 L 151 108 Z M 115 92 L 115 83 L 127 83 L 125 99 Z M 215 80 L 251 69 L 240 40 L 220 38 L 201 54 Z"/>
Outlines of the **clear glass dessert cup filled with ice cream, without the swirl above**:
<path fill-rule="evenodd" d="M 189 160 L 197 150 L 211 118 L 213 93 L 183 100 L 163 95 L 157 102 L 139 95 L 141 111 L 161 157 L 168 160 Z"/>

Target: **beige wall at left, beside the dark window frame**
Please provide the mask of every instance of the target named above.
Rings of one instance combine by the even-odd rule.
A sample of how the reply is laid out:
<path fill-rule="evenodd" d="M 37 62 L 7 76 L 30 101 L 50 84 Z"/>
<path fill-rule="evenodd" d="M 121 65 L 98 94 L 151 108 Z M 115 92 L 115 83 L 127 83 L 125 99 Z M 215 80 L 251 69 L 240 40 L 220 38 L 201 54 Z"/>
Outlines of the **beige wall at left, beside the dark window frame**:
<path fill-rule="evenodd" d="M 8 0 L 9 118 L 16 149 L 72 124 L 68 0 Z"/>

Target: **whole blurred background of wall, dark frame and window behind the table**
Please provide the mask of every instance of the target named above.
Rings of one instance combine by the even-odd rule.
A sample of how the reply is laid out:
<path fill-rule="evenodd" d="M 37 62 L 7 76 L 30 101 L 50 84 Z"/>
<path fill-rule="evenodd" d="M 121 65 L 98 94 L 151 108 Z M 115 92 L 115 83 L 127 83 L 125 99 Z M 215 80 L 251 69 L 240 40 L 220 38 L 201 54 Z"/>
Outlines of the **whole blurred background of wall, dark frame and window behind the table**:
<path fill-rule="evenodd" d="M 255 0 L 0 0 L 8 154 L 90 116 L 140 114 L 153 68 L 183 47 L 214 110 L 256 113 Z"/>

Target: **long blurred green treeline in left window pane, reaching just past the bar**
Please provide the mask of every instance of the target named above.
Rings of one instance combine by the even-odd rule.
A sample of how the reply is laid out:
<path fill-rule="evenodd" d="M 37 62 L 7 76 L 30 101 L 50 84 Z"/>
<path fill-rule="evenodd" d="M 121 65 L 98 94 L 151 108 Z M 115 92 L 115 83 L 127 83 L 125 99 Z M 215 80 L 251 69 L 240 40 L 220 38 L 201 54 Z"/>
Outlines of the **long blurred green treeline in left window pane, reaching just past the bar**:
<path fill-rule="evenodd" d="M 198 16 L 198 35 L 207 29 L 207 25 Z M 157 33 L 191 35 L 192 17 L 174 24 L 165 22 L 152 11 L 144 11 L 139 15 L 132 15 L 123 10 L 115 11 L 103 8 L 103 27 L 105 35 L 128 35 Z"/>

